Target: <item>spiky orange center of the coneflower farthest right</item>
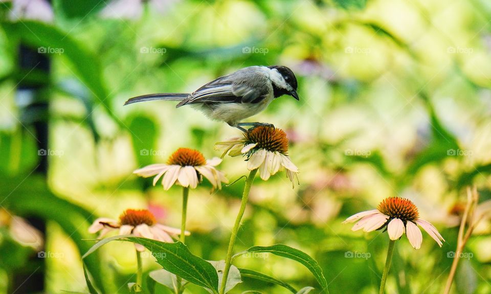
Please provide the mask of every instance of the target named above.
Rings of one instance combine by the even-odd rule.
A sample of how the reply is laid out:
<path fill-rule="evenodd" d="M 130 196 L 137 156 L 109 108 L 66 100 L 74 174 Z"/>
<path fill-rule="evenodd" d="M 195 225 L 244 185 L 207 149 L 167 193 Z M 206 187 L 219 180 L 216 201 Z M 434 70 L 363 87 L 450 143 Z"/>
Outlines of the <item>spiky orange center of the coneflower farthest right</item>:
<path fill-rule="evenodd" d="M 378 204 L 377 209 L 383 214 L 388 215 L 390 218 L 399 218 L 404 221 L 404 223 L 407 221 L 415 221 L 419 218 L 418 208 L 411 200 L 406 198 L 386 198 Z"/>

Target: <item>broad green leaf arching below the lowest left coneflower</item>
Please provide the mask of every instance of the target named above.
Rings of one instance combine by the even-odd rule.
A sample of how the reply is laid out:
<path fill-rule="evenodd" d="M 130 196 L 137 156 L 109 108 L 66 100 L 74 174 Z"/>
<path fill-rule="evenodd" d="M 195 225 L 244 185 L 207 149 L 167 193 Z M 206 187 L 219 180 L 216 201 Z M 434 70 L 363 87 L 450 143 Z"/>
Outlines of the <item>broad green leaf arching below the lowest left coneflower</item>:
<path fill-rule="evenodd" d="M 97 242 L 82 258 L 114 240 L 129 241 L 145 246 L 157 259 L 157 263 L 168 272 L 193 284 L 208 288 L 213 293 L 218 293 L 218 275 L 213 265 L 193 255 L 182 242 L 165 243 L 133 236 L 114 236 Z"/>

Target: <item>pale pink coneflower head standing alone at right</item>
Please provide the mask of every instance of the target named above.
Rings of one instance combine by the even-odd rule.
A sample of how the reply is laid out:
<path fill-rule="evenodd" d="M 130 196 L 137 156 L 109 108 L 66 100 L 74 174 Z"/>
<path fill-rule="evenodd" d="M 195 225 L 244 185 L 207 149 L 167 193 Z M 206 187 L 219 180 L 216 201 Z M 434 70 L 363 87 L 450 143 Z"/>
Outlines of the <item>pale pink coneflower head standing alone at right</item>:
<path fill-rule="evenodd" d="M 387 226 L 391 240 L 397 240 L 406 233 L 409 243 L 415 249 L 421 247 L 423 240 L 421 230 L 417 225 L 425 229 L 440 247 L 441 241 L 445 241 L 433 224 L 419 218 L 418 208 L 406 198 L 386 198 L 378 204 L 377 209 L 357 213 L 348 217 L 343 223 L 355 221 L 358 222 L 353 225 L 352 231 L 363 229 L 364 232 L 371 232 Z"/>

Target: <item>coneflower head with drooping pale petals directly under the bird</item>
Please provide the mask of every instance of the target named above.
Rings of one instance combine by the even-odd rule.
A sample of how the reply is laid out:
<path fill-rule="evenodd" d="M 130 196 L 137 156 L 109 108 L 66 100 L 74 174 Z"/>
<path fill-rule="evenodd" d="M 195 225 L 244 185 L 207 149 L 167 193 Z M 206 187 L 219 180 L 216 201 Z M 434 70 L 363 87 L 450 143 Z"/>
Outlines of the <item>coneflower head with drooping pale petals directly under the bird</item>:
<path fill-rule="evenodd" d="M 278 171 L 285 170 L 288 179 L 294 183 L 299 172 L 288 156 L 288 138 L 278 128 L 258 126 L 244 132 L 243 137 L 235 137 L 215 144 L 217 149 L 225 150 L 230 156 L 247 157 L 249 170 L 259 169 L 259 176 L 267 180 Z M 298 180 L 298 179 L 297 179 Z"/>

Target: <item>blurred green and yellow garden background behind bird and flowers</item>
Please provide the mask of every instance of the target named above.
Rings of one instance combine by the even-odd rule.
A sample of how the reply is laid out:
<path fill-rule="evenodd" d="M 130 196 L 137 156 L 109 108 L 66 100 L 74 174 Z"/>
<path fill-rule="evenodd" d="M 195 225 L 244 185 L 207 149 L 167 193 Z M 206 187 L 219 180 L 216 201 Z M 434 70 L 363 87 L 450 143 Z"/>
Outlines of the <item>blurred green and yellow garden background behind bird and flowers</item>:
<path fill-rule="evenodd" d="M 96 217 L 150 208 L 178 227 L 181 189 L 165 192 L 132 171 L 178 147 L 219 156 L 214 143 L 239 132 L 174 102 L 123 103 L 191 92 L 249 65 L 297 75 L 300 101 L 276 99 L 251 121 L 287 131 L 301 173 L 295 189 L 284 174 L 256 180 L 237 252 L 285 243 L 319 261 L 331 293 L 375 293 L 388 236 L 341 222 L 407 197 L 447 242 L 439 248 L 423 233 L 416 251 L 403 236 L 387 291 L 440 293 L 467 185 L 489 210 L 489 1 L 4 0 L 0 15 L 0 292 L 87 292 L 80 256 L 94 244 L 86 239 L 96 237 L 87 233 Z M 232 181 L 247 174 L 240 158 L 220 168 Z M 242 187 L 191 191 L 194 254 L 224 259 Z M 485 218 L 454 293 L 491 292 L 490 232 Z M 131 244 L 112 242 L 87 268 L 106 292 L 125 293 L 135 262 Z M 279 257 L 237 264 L 316 286 Z M 233 293 L 251 289 L 284 292 L 245 279 Z"/>

